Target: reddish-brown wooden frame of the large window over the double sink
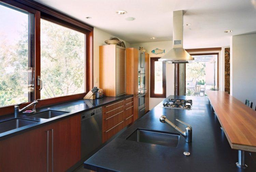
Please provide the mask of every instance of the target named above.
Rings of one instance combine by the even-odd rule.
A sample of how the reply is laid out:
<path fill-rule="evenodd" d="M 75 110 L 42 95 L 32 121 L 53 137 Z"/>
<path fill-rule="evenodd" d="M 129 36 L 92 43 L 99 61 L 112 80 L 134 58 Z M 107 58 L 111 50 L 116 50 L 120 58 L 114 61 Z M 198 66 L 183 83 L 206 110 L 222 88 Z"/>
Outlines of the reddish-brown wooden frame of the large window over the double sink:
<path fill-rule="evenodd" d="M 11 5 L 13 7 L 25 10 L 29 13 L 34 14 L 34 68 L 35 68 L 35 81 L 34 81 L 34 100 L 40 98 L 40 86 L 37 85 L 37 76 L 41 76 L 40 70 L 40 19 L 46 19 L 52 21 L 56 24 L 60 24 L 67 28 L 82 32 L 86 35 L 86 59 L 85 59 L 85 92 L 79 94 L 73 94 L 69 96 L 49 98 L 39 101 L 38 107 L 59 104 L 63 102 L 69 102 L 74 100 L 83 99 L 86 95 L 86 92 L 93 88 L 93 30 L 94 27 L 81 22 L 77 19 L 74 19 L 66 14 L 58 12 L 52 8 L 49 8 L 45 5 L 42 5 L 38 2 L 31 0 L 0 0 L 5 4 Z M 24 107 L 30 102 L 20 105 Z M 0 115 L 6 115 L 14 113 L 14 105 L 0 107 Z"/>

